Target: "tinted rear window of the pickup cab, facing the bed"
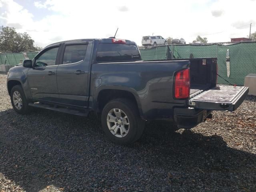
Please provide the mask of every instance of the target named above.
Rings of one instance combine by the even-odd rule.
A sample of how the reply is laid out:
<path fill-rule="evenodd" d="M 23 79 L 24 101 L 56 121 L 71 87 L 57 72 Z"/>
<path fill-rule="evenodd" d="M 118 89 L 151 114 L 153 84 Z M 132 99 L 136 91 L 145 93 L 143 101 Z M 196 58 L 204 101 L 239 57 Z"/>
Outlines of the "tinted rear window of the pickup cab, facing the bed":
<path fill-rule="evenodd" d="M 136 45 L 100 43 L 98 46 L 98 62 L 134 61 L 141 60 L 140 52 Z"/>

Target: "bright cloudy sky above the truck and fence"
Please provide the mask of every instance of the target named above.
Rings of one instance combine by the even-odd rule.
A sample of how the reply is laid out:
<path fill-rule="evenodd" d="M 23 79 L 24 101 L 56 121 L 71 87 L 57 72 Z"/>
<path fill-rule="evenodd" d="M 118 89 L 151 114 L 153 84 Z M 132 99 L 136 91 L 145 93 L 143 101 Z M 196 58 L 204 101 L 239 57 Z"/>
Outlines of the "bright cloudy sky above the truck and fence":
<path fill-rule="evenodd" d="M 35 46 L 78 38 L 142 36 L 228 42 L 256 31 L 256 0 L 0 0 L 0 26 L 27 32 Z"/>

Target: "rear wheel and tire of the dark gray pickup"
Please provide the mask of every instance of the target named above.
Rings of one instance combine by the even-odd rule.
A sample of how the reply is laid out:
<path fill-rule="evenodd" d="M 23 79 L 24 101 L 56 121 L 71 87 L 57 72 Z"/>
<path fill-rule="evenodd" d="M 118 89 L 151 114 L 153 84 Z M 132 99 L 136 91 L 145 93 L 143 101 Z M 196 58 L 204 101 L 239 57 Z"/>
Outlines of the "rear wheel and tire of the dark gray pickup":
<path fill-rule="evenodd" d="M 121 115 L 116 115 L 115 112 Z M 112 114 L 111 118 L 109 114 Z M 117 119 L 118 116 L 121 116 L 122 119 Z M 102 110 L 101 122 L 106 136 L 112 142 L 121 145 L 131 144 L 138 140 L 145 126 L 144 120 L 140 118 L 138 107 L 134 102 L 125 98 L 114 99 L 108 102 Z M 112 130 L 110 130 L 111 128 Z M 121 129 L 125 129 L 126 132 L 122 131 L 121 133 Z"/>

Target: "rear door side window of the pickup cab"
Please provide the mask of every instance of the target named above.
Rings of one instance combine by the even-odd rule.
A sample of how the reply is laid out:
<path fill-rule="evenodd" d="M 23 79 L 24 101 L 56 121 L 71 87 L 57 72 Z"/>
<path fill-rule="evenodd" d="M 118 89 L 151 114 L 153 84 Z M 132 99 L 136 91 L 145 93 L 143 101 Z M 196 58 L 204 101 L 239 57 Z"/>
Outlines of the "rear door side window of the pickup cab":
<path fill-rule="evenodd" d="M 85 58 L 87 44 L 66 45 L 62 64 L 81 62 Z"/>

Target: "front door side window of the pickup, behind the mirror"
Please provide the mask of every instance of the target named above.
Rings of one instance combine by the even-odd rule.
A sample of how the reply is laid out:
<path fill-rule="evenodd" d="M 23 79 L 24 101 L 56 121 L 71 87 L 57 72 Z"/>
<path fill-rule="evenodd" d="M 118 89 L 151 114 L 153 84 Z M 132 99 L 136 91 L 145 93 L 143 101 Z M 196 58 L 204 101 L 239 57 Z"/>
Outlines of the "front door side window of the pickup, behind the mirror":
<path fill-rule="evenodd" d="M 43 67 L 43 66 L 51 66 L 55 65 L 57 53 L 58 53 L 58 47 L 51 48 L 44 52 L 42 55 L 40 55 L 35 62 L 35 67 Z"/>

